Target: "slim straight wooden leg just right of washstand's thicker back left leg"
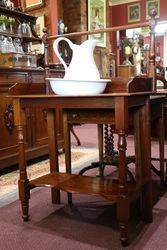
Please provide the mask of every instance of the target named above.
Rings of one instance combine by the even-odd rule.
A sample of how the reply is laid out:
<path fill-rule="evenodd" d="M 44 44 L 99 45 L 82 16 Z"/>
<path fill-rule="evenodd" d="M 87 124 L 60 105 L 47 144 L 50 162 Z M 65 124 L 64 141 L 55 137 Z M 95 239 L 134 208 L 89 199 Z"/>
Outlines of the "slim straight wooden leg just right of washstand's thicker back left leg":
<path fill-rule="evenodd" d="M 67 113 L 63 111 L 63 132 L 64 132 L 64 151 L 65 151 L 65 164 L 66 173 L 71 173 L 71 125 L 67 121 Z M 72 194 L 67 193 L 68 204 L 72 204 Z"/>

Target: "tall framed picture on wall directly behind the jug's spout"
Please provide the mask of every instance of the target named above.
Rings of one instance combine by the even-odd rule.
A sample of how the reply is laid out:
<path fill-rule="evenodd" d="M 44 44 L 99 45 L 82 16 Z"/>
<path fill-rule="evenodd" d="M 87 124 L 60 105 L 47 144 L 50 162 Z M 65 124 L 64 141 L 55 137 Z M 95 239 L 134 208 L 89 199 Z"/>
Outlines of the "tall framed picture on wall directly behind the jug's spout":
<path fill-rule="evenodd" d="M 106 28 L 106 0 L 88 0 L 88 30 L 103 28 Z M 93 34 L 89 38 L 98 40 L 98 46 L 106 46 L 106 33 Z"/>

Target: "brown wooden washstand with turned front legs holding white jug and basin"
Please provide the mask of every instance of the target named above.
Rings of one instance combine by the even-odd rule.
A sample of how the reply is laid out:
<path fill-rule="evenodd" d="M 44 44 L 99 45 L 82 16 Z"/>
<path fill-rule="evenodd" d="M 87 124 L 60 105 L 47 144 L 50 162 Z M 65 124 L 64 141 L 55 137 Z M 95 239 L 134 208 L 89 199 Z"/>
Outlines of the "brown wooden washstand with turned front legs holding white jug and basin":
<path fill-rule="evenodd" d="M 110 28 L 110 31 L 113 29 L 114 28 Z M 105 30 L 102 30 L 100 32 L 104 31 Z M 88 35 L 90 32 L 85 32 L 85 34 Z M 53 39 L 53 37 L 49 39 Z M 46 46 L 47 43 L 45 43 L 45 50 L 47 50 Z M 45 53 L 45 55 L 47 54 Z M 150 67 L 150 72 L 153 73 L 153 60 L 150 65 L 152 66 L 152 68 Z M 47 70 L 46 63 L 46 76 Z M 115 82 L 118 83 L 118 80 L 115 79 Z M 30 190 L 34 187 L 50 187 L 52 190 L 53 203 L 60 203 L 60 190 L 64 190 L 68 193 L 69 204 L 72 202 L 71 193 L 73 192 L 99 195 L 116 202 L 122 245 L 128 244 L 130 204 L 133 200 L 137 199 L 137 197 L 142 197 L 143 219 L 147 222 L 152 221 L 150 95 L 155 93 L 153 85 L 154 77 L 138 77 L 127 79 L 123 82 L 124 84 L 121 86 L 122 91 L 118 89 L 116 91 L 115 89 L 115 93 L 113 93 L 110 89 L 112 85 L 108 85 L 108 90 L 106 90 L 104 94 L 79 97 L 46 94 L 49 90 L 48 82 L 46 89 L 44 85 L 38 85 L 38 89 L 34 89 L 33 93 L 31 87 L 25 91 L 24 86 L 19 84 L 11 88 L 10 94 L 13 97 L 15 125 L 18 130 L 20 168 L 19 197 L 24 221 L 29 219 Z M 143 82 L 145 82 L 145 84 L 143 84 Z M 140 88 L 138 88 L 140 83 Z M 47 109 L 50 174 L 31 181 L 27 178 L 25 160 L 23 133 L 25 107 Z M 60 107 L 63 110 L 66 173 L 59 172 L 58 164 L 56 112 Z M 70 125 L 76 122 L 76 120 L 79 123 L 98 124 L 100 162 L 103 161 L 103 141 L 102 136 L 100 136 L 102 135 L 102 124 L 115 125 L 118 134 L 118 180 L 105 180 L 105 178 L 80 176 L 71 173 Z M 136 181 L 134 183 L 127 180 L 126 166 L 126 135 L 128 133 L 130 120 L 134 121 L 135 128 Z M 144 144 L 142 143 L 143 141 L 145 141 Z"/>

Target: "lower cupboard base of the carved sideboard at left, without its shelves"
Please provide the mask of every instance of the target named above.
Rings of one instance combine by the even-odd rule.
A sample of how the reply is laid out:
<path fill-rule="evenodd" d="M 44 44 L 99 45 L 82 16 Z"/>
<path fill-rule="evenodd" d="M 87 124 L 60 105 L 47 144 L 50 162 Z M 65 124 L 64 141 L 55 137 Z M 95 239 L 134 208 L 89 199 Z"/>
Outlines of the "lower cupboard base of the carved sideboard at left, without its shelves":
<path fill-rule="evenodd" d="M 51 69 L 52 76 L 62 77 L 62 71 Z M 0 169 L 18 163 L 17 133 L 14 127 L 12 99 L 8 91 L 15 83 L 27 85 L 45 82 L 42 68 L 6 68 L 0 69 Z M 48 154 L 48 139 L 46 127 L 46 112 L 42 109 L 26 109 L 26 138 L 27 160 Z M 59 114 L 59 121 L 61 120 Z M 61 122 L 60 122 L 61 123 Z M 60 124 L 59 123 L 59 124 Z M 59 126 L 59 145 L 62 146 L 62 126 Z"/>

